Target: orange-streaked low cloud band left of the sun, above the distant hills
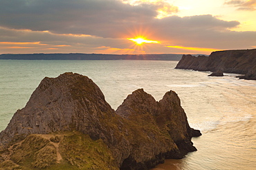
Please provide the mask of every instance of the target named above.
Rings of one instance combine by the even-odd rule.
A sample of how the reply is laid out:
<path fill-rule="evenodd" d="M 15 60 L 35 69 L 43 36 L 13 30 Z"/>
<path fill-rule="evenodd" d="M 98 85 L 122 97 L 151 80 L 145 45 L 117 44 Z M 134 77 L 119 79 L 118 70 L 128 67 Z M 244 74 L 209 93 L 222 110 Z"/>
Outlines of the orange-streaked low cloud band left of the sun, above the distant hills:
<path fill-rule="evenodd" d="M 98 36 L 74 36 L 70 34 L 53 34 L 51 32 L 30 31 L 30 30 L 10 30 L 7 28 L 0 28 L 0 53 L 8 53 L 5 47 L 10 46 L 9 43 L 35 43 L 34 45 L 27 45 L 26 43 L 21 46 L 35 47 L 35 52 L 44 52 L 48 48 L 56 47 L 56 52 L 89 52 L 93 53 L 93 49 L 100 46 L 110 46 L 126 48 L 131 45 L 127 39 L 110 39 Z M 3 43 L 1 43 L 3 42 Z M 11 46 L 15 46 L 12 45 Z M 9 49 L 10 50 L 10 49 Z M 26 50 L 26 49 L 25 49 Z M 38 50 L 38 51 L 36 51 Z M 63 51 L 66 50 L 66 51 Z M 55 52 L 53 50 L 53 52 Z"/>

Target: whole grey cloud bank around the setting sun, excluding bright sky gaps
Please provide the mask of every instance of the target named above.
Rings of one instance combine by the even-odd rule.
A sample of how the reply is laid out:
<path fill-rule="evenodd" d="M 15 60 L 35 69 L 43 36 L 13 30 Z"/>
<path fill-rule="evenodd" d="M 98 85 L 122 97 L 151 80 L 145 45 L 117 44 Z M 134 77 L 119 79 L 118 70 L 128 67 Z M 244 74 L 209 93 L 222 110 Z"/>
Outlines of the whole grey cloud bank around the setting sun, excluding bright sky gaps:
<path fill-rule="evenodd" d="M 159 17 L 164 8 L 165 17 Z M 39 42 L 24 45 L 30 52 L 95 52 L 99 47 L 129 51 L 134 46 L 127 39 L 139 35 L 161 42 L 149 45 L 148 53 L 176 52 L 167 47 L 172 45 L 216 49 L 255 45 L 255 32 L 230 31 L 239 27 L 238 21 L 210 14 L 178 17 L 176 12 L 179 8 L 163 1 L 132 5 L 118 0 L 0 0 L 0 52 L 8 52 L 10 46 L 4 42 Z"/>

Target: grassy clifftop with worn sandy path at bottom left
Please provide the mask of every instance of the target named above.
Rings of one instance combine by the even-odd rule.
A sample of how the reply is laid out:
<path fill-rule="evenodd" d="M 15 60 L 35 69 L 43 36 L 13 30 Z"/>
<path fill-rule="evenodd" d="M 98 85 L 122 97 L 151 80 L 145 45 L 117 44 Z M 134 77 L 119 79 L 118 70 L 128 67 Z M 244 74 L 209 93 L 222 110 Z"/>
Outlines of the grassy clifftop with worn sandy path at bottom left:
<path fill-rule="evenodd" d="M 30 134 L 1 151 L 0 169 L 118 169 L 102 140 L 79 131 Z"/>

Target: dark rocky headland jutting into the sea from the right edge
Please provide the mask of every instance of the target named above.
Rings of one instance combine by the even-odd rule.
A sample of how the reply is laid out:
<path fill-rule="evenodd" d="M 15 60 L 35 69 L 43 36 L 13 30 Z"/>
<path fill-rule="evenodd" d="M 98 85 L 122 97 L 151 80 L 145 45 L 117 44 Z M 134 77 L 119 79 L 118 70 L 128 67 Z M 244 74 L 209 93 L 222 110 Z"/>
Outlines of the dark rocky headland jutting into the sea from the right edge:
<path fill-rule="evenodd" d="M 241 78 L 256 80 L 256 49 L 212 52 L 210 56 L 183 55 L 176 69 L 245 74 Z"/>

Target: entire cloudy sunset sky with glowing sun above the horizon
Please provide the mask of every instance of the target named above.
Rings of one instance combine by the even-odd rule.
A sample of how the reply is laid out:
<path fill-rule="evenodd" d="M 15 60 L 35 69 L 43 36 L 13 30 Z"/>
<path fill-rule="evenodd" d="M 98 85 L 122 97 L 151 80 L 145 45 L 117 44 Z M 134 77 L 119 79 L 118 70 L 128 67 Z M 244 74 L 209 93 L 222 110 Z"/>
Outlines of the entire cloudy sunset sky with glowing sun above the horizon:
<path fill-rule="evenodd" d="M 256 0 L 0 0 L 0 54 L 256 48 Z"/>

